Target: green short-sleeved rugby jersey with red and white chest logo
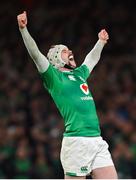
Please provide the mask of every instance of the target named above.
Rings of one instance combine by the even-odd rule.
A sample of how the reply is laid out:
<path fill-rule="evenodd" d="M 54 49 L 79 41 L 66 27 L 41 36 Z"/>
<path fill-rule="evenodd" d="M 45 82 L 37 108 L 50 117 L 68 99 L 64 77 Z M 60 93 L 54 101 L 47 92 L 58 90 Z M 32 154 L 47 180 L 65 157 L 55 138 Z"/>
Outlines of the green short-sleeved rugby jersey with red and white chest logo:
<path fill-rule="evenodd" d="M 64 119 L 64 136 L 100 136 L 95 103 L 86 82 L 87 66 L 61 72 L 50 64 L 40 74 Z"/>

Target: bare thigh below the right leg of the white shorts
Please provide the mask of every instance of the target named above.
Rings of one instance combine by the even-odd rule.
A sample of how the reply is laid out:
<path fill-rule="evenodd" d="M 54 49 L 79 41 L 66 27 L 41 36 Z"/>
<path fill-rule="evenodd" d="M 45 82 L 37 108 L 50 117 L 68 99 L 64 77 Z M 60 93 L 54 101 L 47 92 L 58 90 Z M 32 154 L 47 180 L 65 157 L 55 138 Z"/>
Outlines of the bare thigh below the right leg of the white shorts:
<path fill-rule="evenodd" d="M 114 166 L 96 168 L 91 173 L 93 179 L 118 179 Z"/>

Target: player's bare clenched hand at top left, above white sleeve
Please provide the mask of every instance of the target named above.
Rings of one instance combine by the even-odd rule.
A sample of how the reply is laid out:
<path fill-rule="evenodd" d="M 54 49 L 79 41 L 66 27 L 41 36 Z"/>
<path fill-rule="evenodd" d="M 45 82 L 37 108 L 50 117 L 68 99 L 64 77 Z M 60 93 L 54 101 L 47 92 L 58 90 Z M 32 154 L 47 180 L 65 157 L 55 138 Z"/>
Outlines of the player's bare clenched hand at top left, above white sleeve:
<path fill-rule="evenodd" d="M 27 25 L 27 14 L 26 11 L 24 11 L 22 14 L 19 14 L 17 16 L 18 26 L 19 28 L 23 29 Z"/>

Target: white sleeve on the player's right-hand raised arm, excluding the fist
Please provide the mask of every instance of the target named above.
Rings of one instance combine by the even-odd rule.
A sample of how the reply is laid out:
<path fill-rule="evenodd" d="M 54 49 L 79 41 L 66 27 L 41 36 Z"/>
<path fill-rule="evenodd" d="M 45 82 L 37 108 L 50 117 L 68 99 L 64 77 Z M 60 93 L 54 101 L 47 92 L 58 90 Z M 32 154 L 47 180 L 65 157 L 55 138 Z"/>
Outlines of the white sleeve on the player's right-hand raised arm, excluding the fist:
<path fill-rule="evenodd" d="M 98 63 L 104 45 L 105 45 L 105 43 L 99 39 L 97 41 L 97 43 L 95 44 L 94 48 L 85 57 L 83 64 L 85 64 L 88 67 L 90 72 L 93 70 L 95 65 Z"/>

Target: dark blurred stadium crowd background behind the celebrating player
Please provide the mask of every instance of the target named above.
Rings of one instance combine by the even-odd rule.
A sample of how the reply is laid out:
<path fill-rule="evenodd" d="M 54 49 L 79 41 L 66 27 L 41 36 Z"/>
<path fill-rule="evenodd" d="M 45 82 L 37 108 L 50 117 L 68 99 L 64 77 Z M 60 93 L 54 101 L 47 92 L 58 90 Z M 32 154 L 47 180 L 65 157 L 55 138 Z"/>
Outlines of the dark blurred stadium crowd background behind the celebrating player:
<path fill-rule="evenodd" d="M 63 119 L 24 47 L 16 21 L 23 10 L 41 52 L 65 44 L 78 65 L 98 32 L 109 32 L 88 83 L 119 178 L 136 178 L 136 11 L 125 0 L 0 2 L 0 178 L 63 178 Z"/>

